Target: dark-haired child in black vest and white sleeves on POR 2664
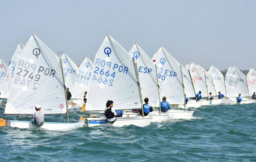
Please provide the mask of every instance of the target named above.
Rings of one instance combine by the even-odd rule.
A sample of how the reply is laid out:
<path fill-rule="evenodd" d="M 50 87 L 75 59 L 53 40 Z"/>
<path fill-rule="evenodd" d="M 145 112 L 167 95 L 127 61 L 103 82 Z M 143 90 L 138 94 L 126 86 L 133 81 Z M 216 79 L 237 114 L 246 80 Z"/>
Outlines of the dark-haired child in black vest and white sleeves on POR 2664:
<path fill-rule="evenodd" d="M 106 104 L 106 109 L 104 110 L 104 118 L 106 118 L 107 122 L 110 122 L 110 123 L 114 123 L 116 121 L 116 111 L 115 109 L 113 108 L 114 106 L 114 102 L 111 101 L 111 100 L 108 100 L 107 101 L 107 104 Z"/>

